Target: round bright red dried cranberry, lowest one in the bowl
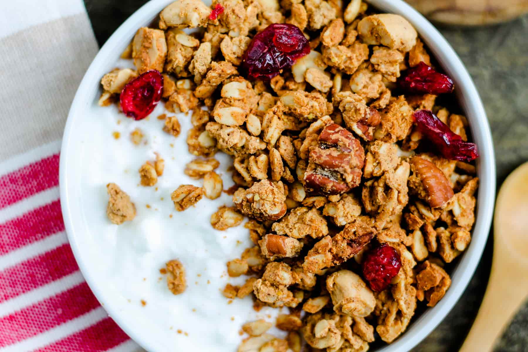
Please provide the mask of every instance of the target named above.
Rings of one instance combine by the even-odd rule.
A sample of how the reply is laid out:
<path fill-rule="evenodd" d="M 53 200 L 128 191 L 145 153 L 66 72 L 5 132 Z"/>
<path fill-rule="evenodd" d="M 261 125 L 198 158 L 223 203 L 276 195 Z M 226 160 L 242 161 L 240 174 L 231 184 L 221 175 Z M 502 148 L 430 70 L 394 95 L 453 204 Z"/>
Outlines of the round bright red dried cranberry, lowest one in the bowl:
<path fill-rule="evenodd" d="M 400 255 L 388 244 L 373 249 L 363 259 L 363 277 L 369 281 L 370 288 L 377 292 L 389 286 L 400 268 Z"/>

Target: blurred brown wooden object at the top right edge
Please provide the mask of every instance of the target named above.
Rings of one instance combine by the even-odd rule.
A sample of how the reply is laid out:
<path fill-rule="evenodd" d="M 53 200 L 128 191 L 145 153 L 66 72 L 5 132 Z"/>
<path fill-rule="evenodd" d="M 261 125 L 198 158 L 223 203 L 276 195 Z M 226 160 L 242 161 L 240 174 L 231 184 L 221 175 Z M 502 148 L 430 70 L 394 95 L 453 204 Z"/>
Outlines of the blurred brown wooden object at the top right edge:
<path fill-rule="evenodd" d="M 429 20 L 485 25 L 513 20 L 528 12 L 528 0 L 406 0 Z"/>

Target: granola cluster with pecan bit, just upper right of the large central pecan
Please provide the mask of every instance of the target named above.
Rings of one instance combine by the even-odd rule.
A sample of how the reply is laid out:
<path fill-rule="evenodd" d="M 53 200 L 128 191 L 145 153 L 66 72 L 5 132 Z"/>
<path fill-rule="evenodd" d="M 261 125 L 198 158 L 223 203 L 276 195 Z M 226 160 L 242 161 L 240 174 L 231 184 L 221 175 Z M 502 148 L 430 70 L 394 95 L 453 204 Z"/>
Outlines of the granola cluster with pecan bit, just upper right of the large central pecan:
<path fill-rule="evenodd" d="M 377 110 L 367 107 L 365 100 L 352 92 L 337 93 L 332 98 L 332 102 L 343 113 L 346 127 L 364 140 L 372 140 L 374 129 L 381 121 Z"/>

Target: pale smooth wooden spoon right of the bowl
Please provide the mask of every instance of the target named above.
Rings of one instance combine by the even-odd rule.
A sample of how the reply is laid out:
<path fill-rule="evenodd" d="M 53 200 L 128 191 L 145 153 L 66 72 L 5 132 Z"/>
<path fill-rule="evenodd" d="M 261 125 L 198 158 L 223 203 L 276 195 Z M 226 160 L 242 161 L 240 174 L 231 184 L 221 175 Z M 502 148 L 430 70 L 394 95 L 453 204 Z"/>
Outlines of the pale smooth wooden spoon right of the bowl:
<path fill-rule="evenodd" d="M 498 193 L 493 245 L 484 300 L 460 352 L 491 351 L 528 297 L 528 163 L 515 169 Z"/>

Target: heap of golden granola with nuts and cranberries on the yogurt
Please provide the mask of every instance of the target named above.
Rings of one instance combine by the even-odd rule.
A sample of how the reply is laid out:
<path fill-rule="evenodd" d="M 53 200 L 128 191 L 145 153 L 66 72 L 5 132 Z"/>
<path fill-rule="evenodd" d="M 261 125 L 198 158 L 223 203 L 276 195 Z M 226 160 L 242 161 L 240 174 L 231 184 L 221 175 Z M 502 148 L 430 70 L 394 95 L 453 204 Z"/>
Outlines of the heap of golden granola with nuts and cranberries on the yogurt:
<path fill-rule="evenodd" d="M 192 110 L 186 140 L 198 158 L 185 173 L 203 178 L 173 192 L 176 210 L 218 198 L 212 157 L 232 156 L 234 205 L 211 224 L 248 216 L 254 246 L 227 263 L 246 283 L 222 293 L 289 309 L 276 321 L 286 339 L 248 322 L 239 351 L 366 351 L 444 296 L 448 263 L 471 240 L 478 154 L 466 118 L 437 104 L 454 84 L 407 20 L 361 0 L 178 0 L 159 28 L 138 30 L 131 55 L 137 70 L 105 75 L 101 101 L 138 74 L 163 74 L 166 109 Z M 177 137 L 178 118 L 163 130 Z M 140 173 L 147 186 L 159 176 L 148 163 Z"/>

